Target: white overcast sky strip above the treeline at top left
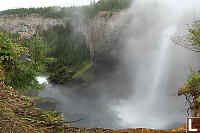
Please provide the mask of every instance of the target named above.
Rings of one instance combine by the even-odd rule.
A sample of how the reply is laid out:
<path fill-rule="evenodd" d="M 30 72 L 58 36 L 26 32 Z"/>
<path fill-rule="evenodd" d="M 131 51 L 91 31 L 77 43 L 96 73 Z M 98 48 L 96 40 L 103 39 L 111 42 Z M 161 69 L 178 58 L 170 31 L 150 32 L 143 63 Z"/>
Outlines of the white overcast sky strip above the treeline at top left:
<path fill-rule="evenodd" d="M 88 5 L 90 2 L 91 0 L 4 0 L 1 1 L 0 11 L 13 8 Z"/>

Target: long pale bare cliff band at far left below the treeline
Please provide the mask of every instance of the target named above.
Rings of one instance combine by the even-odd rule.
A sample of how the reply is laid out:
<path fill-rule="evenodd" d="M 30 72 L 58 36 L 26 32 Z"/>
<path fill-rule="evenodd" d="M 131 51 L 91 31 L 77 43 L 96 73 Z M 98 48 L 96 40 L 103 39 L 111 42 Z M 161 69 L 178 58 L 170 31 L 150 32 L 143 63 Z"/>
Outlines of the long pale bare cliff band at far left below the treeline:
<path fill-rule="evenodd" d="M 47 30 L 55 25 L 65 25 L 62 19 L 43 18 L 37 14 L 29 16 L 3 15 L 0 17 L 0 28 L 15 32 L 23 37 L 30 37 L 37 30 Z"/>

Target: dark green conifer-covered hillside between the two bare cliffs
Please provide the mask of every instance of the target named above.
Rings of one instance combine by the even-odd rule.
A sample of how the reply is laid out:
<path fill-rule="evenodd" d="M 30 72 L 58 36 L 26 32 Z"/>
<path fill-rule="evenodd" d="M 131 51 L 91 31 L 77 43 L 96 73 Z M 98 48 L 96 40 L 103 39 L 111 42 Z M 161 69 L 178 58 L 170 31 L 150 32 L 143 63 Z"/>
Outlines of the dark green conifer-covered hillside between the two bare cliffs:
<path fill-rule="evenodd" d="M 48 63 L 53 82 L 61 84 L 73 80 L 73 75 L 89 64 L 90 51 L 85 37 L 81 32 L 74 31 L 70 24 L 65 27 L 55 26 L 41 33 L 41 36 L 50 46 L 48 57 L 55 59 Z"/>

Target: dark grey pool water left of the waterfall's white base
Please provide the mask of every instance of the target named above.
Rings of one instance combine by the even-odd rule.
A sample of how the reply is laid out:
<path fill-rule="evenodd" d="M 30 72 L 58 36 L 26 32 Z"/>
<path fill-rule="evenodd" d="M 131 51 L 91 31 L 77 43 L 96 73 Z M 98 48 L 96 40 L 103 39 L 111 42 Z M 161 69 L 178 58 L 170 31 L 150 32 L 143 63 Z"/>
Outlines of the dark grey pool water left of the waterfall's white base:
<path fill-rule="evenodd" d="M 68 120 L 80 120 L 70 126 L 123 128 L 117 113 L 109 102 L 102 96 L 93 93 L 90 89 L 73 90 L 67 86 L 46 84 L 46 88 L 39 92 L 39 96 L 53 98 L 60 104 L 61 112 Z M 82 88 L 84 89 L 84 88 Z"/>

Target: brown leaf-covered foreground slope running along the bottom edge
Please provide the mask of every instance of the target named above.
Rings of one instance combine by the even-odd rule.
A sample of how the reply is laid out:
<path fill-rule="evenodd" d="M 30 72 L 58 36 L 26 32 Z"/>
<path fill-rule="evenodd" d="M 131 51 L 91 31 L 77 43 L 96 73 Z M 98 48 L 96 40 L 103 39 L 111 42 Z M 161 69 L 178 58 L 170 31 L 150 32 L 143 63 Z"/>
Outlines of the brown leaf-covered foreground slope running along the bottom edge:
<path fill-rule="evenodd" d="M 63 125 L 66 120 L 55 112 L 45 112 L 35 107 L 35 100 L 23 96 L 0 82 L 0 131 L 2 133 L 184 133 L 185 126 L 173 130 L 78 128 Z M 70 123 L 70 122 L 69 122 Z"/>

